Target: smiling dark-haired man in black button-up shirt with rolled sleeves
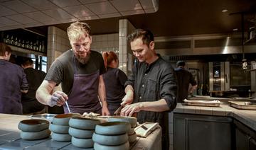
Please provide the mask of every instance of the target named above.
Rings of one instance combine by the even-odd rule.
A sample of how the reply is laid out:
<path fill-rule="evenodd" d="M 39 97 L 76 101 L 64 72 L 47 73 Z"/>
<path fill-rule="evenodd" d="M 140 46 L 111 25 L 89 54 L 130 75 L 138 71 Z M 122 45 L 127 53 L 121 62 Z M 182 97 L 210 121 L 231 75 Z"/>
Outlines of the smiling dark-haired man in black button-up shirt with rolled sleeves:
<path fill-rule="evenodd" d="M 156 54 L 154 35 L 137 29 L 128 36 L 137 57 L 132 75 L 125 83 L 121 115 L 137 114 L 139 123 L 159 122 L 162 127 L 162 149 L 169 149 L 169 115 L 176 108 L 176 79 L 171 64 Z"/>

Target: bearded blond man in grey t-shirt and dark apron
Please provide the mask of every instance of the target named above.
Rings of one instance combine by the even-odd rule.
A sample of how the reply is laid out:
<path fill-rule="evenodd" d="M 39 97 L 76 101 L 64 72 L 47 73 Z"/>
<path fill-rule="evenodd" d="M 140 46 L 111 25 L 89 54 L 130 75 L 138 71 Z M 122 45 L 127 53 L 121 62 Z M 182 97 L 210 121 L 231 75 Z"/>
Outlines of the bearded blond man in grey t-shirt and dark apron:
<path fill-rule="evenodd" d="M 104 61 L 99 52 L 90 50 L 92 37 L 87 23 L 72 23 L 67 30 L 71 50 L 60 55 L 50 66 L 36 98 L 46 105 L 63 105 L 68 101 L 72 113 L 102 113 L 109 115 L 105 94 Z M 63 91 L 53 88 L 61 83 Z M 68 95 L 67 95 L 67 94 Z M 100 101 L 102 106 L 100 105 Z"/>

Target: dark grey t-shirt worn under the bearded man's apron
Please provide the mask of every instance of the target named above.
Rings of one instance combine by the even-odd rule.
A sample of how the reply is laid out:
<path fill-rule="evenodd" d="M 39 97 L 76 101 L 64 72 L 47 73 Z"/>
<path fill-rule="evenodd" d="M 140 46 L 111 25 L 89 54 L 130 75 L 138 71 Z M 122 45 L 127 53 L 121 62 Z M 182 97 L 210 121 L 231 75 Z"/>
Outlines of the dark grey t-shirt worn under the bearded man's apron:
<path fill-rule="evenodd" d="M 87 64 L 81 64 L 75 59 L 73 50 L 68 50 L 60 55 L 50 66 L 45 80 L 61 83 L 63 92 L 69 94 L 74 81 L 76 64 L 76 74 L 92 74 L 95 71 L 100 71 L 100 74 L 105 73 L 104 60 L 99 52 L 91 50 L 90 59 Z"/>

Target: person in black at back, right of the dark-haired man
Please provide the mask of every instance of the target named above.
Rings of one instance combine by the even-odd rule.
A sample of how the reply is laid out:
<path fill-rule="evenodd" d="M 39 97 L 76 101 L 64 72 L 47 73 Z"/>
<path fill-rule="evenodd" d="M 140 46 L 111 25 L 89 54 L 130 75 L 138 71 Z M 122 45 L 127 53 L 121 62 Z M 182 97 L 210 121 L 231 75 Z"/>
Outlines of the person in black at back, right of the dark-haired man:
<path fill-rule="evenodd" d="M 185 69 L 185 65 L 186 63 L 184 61 L 178 61 L 176 63 L 177 68 L 174 69 L 178 83 L 178 103 L 183 103 L 183 100 L 188 98 L 188 93 L 193 93 L 197 88 L 196 80 L 193 78 L 191 72 Z M 191 87 L 189 87 L 190 83 L 192 85 Z"/>

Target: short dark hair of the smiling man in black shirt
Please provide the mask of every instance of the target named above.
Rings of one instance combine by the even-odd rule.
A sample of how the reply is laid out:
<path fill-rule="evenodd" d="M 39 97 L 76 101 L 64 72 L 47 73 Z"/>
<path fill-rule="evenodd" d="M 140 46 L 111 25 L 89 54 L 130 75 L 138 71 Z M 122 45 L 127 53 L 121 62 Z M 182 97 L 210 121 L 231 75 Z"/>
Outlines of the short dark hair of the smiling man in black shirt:
<path fill-rule="evenodd" d="M 137 38 L 142 37 L 143 44 L 146 44 L 149 46 L 149 43 L 151 41 L 154 41 L 154 35 L 151 33 L 150 30 L 144 30 L 144 29 L 137 29 L 134 30 L 130 35 L 127 36 L 128 42 L 132 42 Z"/>

